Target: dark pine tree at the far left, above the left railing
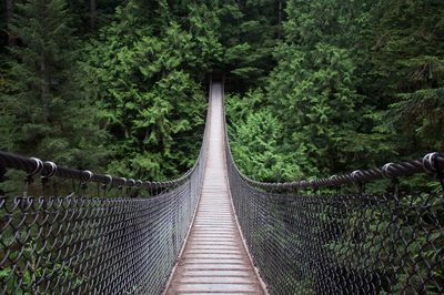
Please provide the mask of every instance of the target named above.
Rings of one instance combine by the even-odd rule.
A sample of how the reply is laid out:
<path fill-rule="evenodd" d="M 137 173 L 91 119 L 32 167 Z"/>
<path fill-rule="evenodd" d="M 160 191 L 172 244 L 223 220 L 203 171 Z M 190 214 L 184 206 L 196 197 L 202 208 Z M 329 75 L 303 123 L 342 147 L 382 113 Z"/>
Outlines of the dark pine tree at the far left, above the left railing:
<path fill-rule="evenodd" d="M 1 95 L 0 148 L 65 165 L 94 166 L 103 134 L 75 89 L 77 41 L 63 0 L 17 3 L 11 31 L 12 90 Z"/>

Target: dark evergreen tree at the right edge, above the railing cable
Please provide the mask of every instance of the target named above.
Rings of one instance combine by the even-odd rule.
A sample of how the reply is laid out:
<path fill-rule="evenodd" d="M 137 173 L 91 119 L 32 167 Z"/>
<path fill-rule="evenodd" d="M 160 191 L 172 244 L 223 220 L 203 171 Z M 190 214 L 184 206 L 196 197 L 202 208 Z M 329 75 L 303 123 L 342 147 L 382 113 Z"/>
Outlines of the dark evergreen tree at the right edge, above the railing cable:
<path fill-rule="evenodd" d="M 404 155 L 443 150 L 444 2 L 379 1 L 373 88 Z"/>

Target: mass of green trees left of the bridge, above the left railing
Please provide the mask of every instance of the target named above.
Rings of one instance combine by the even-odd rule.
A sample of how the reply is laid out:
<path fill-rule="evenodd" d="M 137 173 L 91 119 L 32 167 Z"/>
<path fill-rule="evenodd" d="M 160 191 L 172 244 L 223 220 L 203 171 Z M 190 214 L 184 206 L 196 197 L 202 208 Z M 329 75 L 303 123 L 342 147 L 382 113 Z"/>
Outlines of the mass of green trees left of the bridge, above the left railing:
<path fill-rule="evenodd" d="M 132 0 L 113 16 L 115 1 L 97 6 L 99 32 L 87 3 L 18 1 L 19 45 L 0 79 L 0 149 L 133 177 L 178 176 L 198 155 L 201 84 L 223 57 L 215 3 Z"/>

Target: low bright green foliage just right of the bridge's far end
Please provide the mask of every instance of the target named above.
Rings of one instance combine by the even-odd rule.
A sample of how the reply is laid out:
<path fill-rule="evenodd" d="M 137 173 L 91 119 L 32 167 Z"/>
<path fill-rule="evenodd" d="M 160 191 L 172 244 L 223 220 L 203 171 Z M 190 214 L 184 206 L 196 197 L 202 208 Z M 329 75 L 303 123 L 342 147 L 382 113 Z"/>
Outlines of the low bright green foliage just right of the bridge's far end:
<path fill-rule="evenodd" d="M 283 126 L 269 108 L 263 108 L 262 92 L 251 92 L 240 101 L 234 95 L 228 100 L 231 122 L 231 149 L 241 171 L 260 181 L 292 181 L 310 169 L 307 162 L 299 161 L 305 154 L 304 146 L 285 150 Z M 313 171 L 311 171 L 313 173 Z"/>

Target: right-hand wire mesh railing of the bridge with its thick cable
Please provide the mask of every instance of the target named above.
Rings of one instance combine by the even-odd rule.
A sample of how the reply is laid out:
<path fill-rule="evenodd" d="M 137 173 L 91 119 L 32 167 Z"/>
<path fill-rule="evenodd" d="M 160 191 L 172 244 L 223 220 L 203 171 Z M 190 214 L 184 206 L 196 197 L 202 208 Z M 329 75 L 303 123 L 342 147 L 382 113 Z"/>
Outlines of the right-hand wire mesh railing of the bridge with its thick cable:
<path fill-rule="evenodd" d="M 228 143 L 226 136 L 238 221 L 271 294 L 444 294 L 443 153 L 329 179 L 261 183 L 242 175 Z M 412 175 L 434 186 L 405 190 Z M 386 189 L 365 191 L 381 179 Z"/>

